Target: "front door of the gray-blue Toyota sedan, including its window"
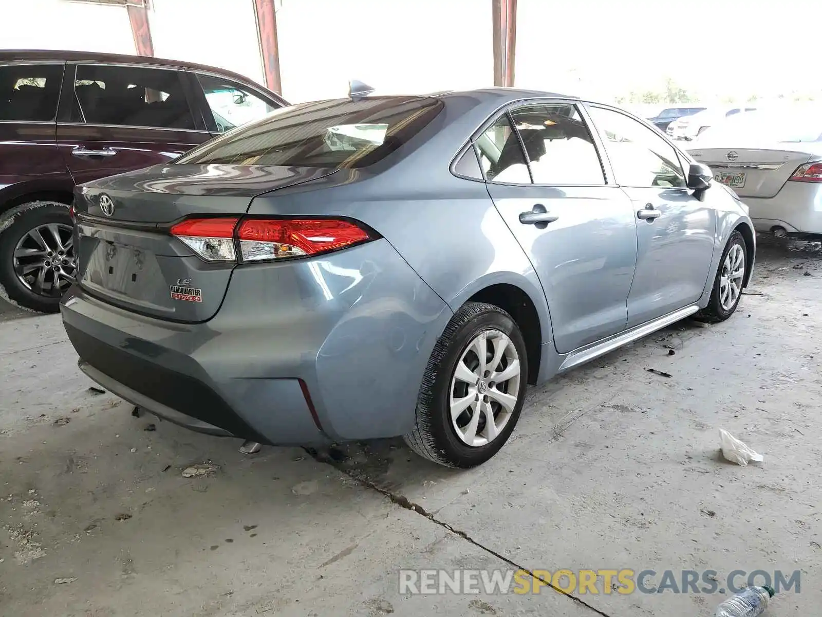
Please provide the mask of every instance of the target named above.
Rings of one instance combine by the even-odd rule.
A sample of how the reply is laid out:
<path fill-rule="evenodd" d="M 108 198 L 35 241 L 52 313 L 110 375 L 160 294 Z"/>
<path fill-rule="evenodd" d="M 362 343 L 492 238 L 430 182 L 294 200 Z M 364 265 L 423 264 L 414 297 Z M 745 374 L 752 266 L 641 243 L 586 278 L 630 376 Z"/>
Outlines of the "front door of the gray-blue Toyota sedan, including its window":
<path fill-rule="evenodd" d="M 686 188 L 677 150 L 653 129 L 616 109 L 591 105 L 591 119 L 637 225 L 628 327 L 694 304 L 708 280 L 716 213 Z"/>

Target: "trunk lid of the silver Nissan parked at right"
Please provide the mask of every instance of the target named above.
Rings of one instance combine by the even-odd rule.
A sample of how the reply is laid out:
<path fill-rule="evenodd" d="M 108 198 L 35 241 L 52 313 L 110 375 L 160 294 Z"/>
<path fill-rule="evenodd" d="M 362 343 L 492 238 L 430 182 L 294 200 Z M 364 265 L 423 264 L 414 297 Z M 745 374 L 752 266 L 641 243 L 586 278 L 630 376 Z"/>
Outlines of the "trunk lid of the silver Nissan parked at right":
<path fill-rule="evenodd" d="M 774 197 L 798 167 L 822 160 L 822 148 L 814 143 L 737 148 L 695 146 L 689 152 L 713 170 L 714 179 L 727 184 L 740 197 Z"/>

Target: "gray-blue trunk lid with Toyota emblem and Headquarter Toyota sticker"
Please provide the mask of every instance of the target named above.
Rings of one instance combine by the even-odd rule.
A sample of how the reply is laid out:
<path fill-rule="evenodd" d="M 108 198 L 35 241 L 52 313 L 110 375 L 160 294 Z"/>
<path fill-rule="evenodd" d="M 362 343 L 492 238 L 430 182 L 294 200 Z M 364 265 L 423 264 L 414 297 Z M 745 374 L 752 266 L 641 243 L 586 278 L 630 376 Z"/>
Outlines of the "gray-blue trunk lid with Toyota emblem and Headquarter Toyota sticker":
<path fill-rule="evenodd" d="M 335 169 L 158 165 L 76 189 L 78 282 L 121 308 L 177 322 L 210 319 L 236 262 L 205 262 L 169 230 L 187 217 L 238 217 L 252 199 Z"/>

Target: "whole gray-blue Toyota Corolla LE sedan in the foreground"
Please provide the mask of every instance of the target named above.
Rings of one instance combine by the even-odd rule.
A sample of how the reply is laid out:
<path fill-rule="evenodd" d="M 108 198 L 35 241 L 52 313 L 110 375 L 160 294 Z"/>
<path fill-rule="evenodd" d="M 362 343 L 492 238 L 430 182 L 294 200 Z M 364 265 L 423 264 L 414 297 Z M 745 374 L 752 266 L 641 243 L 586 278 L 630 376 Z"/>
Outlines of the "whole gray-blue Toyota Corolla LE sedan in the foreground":
<path fill-rule="evenodd" d="M 754 233 L 712 177 L 569 96 L 293 105 L 77 188 L 62 318 L 90 378 L 191 429 L 474 466 L 527 384 L 732 315 Z"/>

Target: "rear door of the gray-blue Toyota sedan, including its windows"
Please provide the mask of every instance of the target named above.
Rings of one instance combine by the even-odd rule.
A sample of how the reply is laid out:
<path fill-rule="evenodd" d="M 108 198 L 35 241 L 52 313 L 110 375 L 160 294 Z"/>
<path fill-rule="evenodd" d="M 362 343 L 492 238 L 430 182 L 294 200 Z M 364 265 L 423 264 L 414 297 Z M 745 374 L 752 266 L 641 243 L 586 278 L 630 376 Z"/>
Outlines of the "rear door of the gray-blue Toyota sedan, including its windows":
<path fill-rule="evenodd" d="M 475 145 L 488 193 L 545 290 L 556 350 L 621 332 L 636 259 L 633 208 L 606 183 L 575 104 L 511 109 Z"/>

